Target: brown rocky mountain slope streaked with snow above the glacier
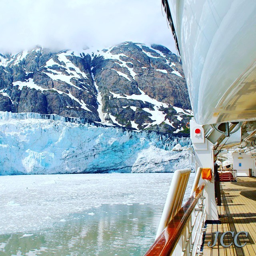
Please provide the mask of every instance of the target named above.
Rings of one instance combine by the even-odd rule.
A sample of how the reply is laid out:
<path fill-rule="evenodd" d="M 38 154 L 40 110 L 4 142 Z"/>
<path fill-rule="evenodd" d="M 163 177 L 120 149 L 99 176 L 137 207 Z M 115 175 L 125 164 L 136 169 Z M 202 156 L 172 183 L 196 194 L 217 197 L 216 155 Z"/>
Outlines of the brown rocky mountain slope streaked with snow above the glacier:
<path fill-rule="evenodd" d="M 160 45 L 103 50 L 36 47 L 0 54 L 0 111 L 86 118 L 186 135 L 192 112 L 181 63 Z"/>

